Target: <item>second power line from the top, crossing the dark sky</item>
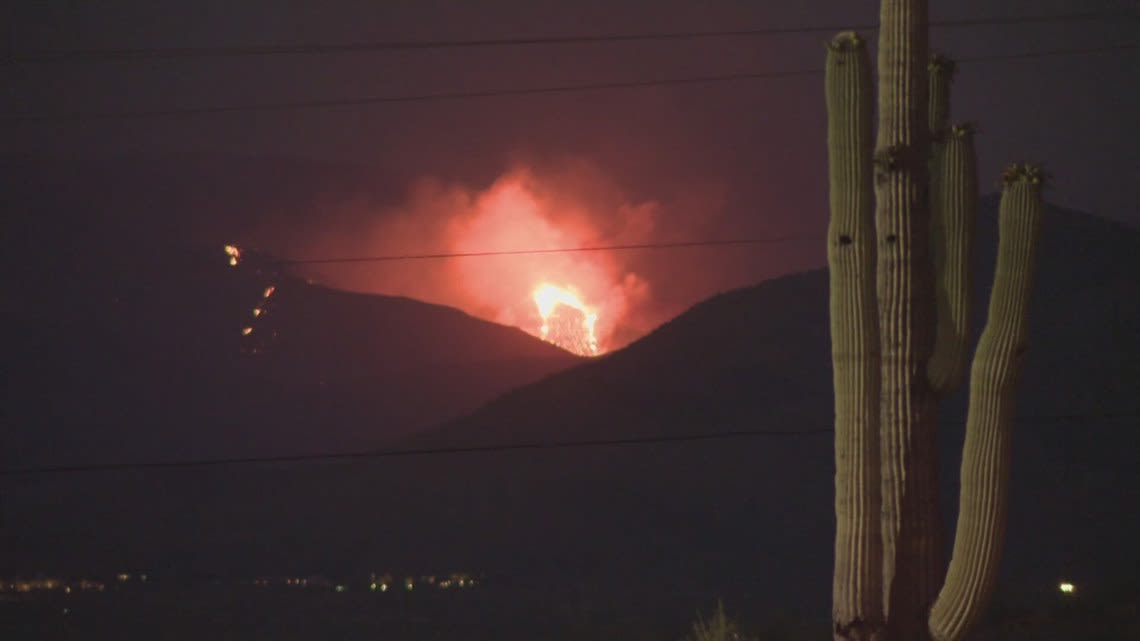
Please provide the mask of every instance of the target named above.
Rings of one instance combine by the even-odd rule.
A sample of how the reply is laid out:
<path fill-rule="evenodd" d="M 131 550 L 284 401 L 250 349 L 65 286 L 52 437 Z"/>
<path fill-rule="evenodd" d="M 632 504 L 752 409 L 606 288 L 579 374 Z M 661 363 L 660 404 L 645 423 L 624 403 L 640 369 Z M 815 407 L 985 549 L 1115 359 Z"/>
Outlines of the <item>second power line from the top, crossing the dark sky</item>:
<path fill-rule="evenodd" d="M 1080 49 L 1052 49 L 1045 51 L 1025 51 L 1018 54 L 995 54 L 958 58 L 959 63 L 991 63 L 999 60 L 1018 60 L 1058 56 L 1085 56 L 1115 51 L 1140 50 L 1138 44 L 1117 44 L 1107 47 L 1090 47 Z M 556 94 L 577 94 L 583 91 L 603 91 L 616 89 L 646 89 L 653 87 L 675 87 L 684 84 L 708 84 L 743 80 L 774 80 L 787 78 L 807 78 L 822 75 L 822 68 L 768 71 L 750 73 L 728 73 L 717 75 L 699 75 L 689 78 L 671 78 L 658 80 L 635 80 L 613 82 L 588 82 L 580 84 L 561 84 L 551 87 L 530 87 L 520 89 L 490 89 L 484 91 L 442 91 L 437 94 L 418 94 L 408 96 L 374 96 L 364 98 L 329 98 L 314 100 L 292 100 L 280 103 L 252 103 L 247 105 L 217 105 L 205 107 L 179 107 L 168 109 L 140 109 L 124 112 L 91 113 L 56 113 L 56 114 L 0 114 L 0 122 L 60 122 L 60 121 L 106 121 L 135 120 L 166 116 L 187 116 L 206 114 L 226 114 L 242 112 L 301 111 L 352 106 L 388 105 L 400 103 L 424 103 L 445 100 L 467 100 L 480 98 L 505 98 L 515 96 L 539 96 Z"/>

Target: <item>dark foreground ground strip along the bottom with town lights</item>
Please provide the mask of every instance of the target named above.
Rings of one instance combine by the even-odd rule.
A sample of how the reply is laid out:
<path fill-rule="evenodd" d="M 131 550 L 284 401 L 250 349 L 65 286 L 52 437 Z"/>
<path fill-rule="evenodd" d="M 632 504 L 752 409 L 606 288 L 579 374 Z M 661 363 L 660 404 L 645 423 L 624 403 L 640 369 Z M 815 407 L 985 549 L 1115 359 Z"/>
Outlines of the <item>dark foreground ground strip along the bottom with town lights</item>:
<path fill-rule="evenodd" d="M 495 640 L 677 641 L 703 600 L 676 593 L 671 610 L 650 610 L 636 594 L 591 598 L 585 586 L 481 585 L 372 591 L 366 583 L 259 586 L 252 583 L 152 583 L 103 592 L 63 590 L 0 594 L 0 638 L 10 641 L 111 640 Z M 1054 586 L 1056 587 L 1056 586 Z M 1121 641 L 1140 639 L 1140 590 L 1093 594 L 1007 590 L 977 641 Z M 654 594 L 659 601 L 660 594 Z M 707 612 L 708 608 L 701 608 Z M 733 612 L 733 608 L 727 608 Z M 825 620 L 741 620 L 746 639 L 826 638 Z"/>

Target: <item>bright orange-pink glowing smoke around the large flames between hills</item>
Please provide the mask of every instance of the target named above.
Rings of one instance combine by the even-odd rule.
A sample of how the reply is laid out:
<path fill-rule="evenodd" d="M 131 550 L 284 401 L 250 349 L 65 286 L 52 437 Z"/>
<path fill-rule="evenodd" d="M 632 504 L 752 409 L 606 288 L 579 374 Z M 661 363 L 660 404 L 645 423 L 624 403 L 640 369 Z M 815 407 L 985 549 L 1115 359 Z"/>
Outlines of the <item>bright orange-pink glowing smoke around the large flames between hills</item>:
<path fill-rule="evenodd" d="M 612 202 L 588 202 L 572 187 L 555 188 L 519 171 L 471 197 L 465 211 L 445 227 L 451 251 L 570 251 L 455 261 L 457 277 L 449 282 L 458 285 L 458 295 L 441 302 L 464 300 L 463 307 L 477 316 L 514 325 L 580 356 L 611 349 L 616 327 L 643 300 L 648 286 L 614 254 L 573 250 L 614 242 L 614 230 L 606 225 L 649 214 Z"/>

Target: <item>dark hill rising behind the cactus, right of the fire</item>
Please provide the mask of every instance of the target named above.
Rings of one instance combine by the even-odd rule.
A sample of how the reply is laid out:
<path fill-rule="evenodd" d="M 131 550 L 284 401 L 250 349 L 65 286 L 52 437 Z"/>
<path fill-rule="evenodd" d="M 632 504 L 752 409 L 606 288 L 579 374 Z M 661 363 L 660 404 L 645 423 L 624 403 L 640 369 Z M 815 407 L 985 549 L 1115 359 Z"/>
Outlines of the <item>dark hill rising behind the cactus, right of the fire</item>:
<path fill-rule="evenodd" d="M 985 198 L 982 211 L 976 331 L 992 282 L 996 198 Z M 1056 209 L 1047 218 L 1032 355 L 1019 390 L 1007 585 L 1140 571 L 1127 544 L 1140 521 L 1124 508 L 1140 498 L 1131 433 L 1140 420 L 1138 250 L 1133 229 Z M 591 546 L 580 543 L 583 522 L 610 527 L 603 539 L 620 550 L 611 549 L 610 562 L 674 569 L 687 562 L 703 566 L 709 585 L 719 571 L 740 590 L 762 590 L 757 576 L 780 577 L 780 599 L 811 595 L 824 611 L 831 440 L 811 432 L 831 424 L 826 300 L 824 270 L 715 297 L 626 350 L 514 390 L 415 444 L 803 431 L 543 452 L 519 482 L 546 479 L 576 510 L 560 514 L 547 505 L 549 495 L 534 492 L 514 511 L 552 514 L 557 525 L 539 539 L 579 554 Z M 964 405 L 962 391 L 943 408 L 951 529 Z M 500 489 L 510 492 L 508 482 Z"/>

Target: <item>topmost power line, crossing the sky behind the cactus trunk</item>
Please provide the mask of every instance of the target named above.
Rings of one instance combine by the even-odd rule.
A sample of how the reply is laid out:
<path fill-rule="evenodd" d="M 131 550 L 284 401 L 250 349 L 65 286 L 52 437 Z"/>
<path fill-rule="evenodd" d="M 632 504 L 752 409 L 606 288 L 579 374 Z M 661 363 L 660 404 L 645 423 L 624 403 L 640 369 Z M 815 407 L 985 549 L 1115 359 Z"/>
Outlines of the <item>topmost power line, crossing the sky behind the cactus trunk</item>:
<path fill-rule="evenodd" d="M 991 25 L 1027 25 L 1049 23 L 1073 23 L 1135 17 L 1134 11 L 1084 11 L 1033 16 L 1008 16 L 996 18 L 961 18 L 931 21 L 931 29 L 961 29 Z M 789 27 L 760 27 L 718 31 L 670 31 L 616 34 L 578 34 L 534 38 L 488 38 L 471 40 L 389 40 L 370 42 L 299 43 L 229 47 L 154 47 L 154 48 L 108 48 L 108 49 L 42 49 L 9 51 L 0 57 L 0 64 L 38 63 L 92 63 L 122 60 L 153 60 L 178 58 L 221 58 L 245 56 L 300 56 L 328 54 L 364 54 L 382 51 L 409 51 L 424 49 L 473 49 L 491 47 L 530 47 L 553 44 L 596 44 L 613 42 L 649 42 L 702 40 L 714 38 L 762 38 L 772 35 L 797 35 L 811 33 L 834 33 L 839 31 L 877 31 L 876 23 L 858 25 L 805 25 Z"/>

